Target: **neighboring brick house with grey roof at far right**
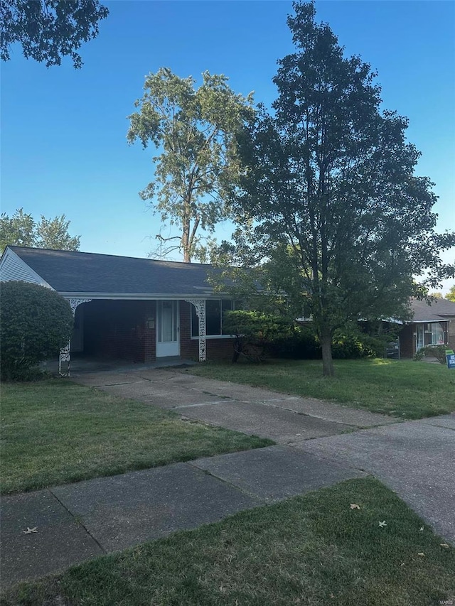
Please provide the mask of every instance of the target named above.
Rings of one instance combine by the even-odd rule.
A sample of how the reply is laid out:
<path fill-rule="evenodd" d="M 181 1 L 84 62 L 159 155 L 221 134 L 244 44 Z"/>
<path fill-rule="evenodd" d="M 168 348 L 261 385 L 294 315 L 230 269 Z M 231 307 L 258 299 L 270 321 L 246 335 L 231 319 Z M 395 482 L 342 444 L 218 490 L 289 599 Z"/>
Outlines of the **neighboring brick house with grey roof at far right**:
<path fill-rule="evenodd" d="M 447 345 L 455 350 L 455 303 L 435 299 L 429 305 L 427 301 L 412 299 L 411 308 L 413 318 L 400 331 L 402 357 L 414 357 L 427 345 Z"/>

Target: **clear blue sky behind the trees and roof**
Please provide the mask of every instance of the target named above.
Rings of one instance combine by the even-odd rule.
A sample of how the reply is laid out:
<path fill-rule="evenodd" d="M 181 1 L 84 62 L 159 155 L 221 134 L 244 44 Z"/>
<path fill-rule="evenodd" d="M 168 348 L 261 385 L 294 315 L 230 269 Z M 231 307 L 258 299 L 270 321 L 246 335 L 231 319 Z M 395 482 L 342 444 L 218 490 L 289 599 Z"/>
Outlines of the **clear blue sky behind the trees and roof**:
<path fill-rule="evenodd" d="M 277 59 L 293 52 L 290 1 L 105 1 L 100 35 L 47 69 L 14 48 L 1 68 L 1 210 L 65 213 L 81 250 L 147 256 L 159 217 L 138 195 L 149 183 L 152 148 L 126 140 L 144 76 L 171 67 L 181 77 L 209 70 L 235 92 L 276 97 Z M 417 173 L 435 183 L 438 228 L 455 229 L 455 3 L 316 1 L 346 47 L 378 71 L 383 107 L 409 117 L 422 151 Z M 220 227 L 227 237 L 230 226 Z M 176 257 L 178 258 L 178 256 Z M 453 251 L 444 255 L 453 261 Z M 448 286 L 449 281 L 444 286 Z"/>

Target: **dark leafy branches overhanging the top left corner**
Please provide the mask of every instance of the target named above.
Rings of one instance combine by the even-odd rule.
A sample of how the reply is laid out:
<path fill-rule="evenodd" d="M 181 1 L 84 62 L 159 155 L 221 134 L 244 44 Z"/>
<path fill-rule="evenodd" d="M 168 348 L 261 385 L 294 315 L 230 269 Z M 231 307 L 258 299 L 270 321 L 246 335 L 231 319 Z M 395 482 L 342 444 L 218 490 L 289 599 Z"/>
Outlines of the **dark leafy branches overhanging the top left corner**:
<path fill-rule="evenodd" d="M 98 22 L 109 14 L 98 0 L 0 0 L 1 59 L 11 58 L 19 43 L 28 59 L 60 65 L 70 56 L 82 67 L 77 50 L 98 35 Z"/>

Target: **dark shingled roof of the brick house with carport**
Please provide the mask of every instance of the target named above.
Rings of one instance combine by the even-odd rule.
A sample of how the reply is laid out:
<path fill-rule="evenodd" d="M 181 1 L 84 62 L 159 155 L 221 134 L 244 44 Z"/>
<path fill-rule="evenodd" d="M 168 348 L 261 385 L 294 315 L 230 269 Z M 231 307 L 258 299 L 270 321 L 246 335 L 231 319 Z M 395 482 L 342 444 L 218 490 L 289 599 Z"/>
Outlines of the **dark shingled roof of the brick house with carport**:
<path fill-rule="evenodd" d="M 11 246 L 10 249 L 59 293 L 100 296 L 207 296 L 210 265 L 129 256 Z"/>

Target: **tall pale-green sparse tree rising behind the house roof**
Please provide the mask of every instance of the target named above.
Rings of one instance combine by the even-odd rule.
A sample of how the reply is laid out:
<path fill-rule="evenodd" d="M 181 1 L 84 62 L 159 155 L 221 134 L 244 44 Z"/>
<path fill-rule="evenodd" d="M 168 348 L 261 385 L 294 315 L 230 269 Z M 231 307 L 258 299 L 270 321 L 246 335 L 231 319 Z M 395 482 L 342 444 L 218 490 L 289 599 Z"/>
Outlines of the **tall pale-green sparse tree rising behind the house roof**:
<path fill-rule="evenodd" d="M 148 75 L 127 135 L 130 143 L 139 139 L 161 152 L 153 158 L 154 180 L 140 195 L 164 223 L 178 227 L 177 236 L 159 239 L 165 253 L 180 249 L 184 261 L 196 252 L 200 228 L 213 232 L 225 217 L 226 193 L 238 176 L 235 135 L 252 113 L 251 96 L 232 92 L 227 77 L 202 76 L 195 89 L 192 77 L 166 67 Z"/>

